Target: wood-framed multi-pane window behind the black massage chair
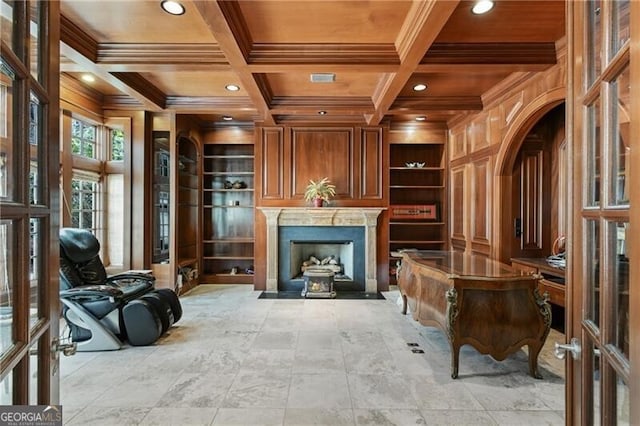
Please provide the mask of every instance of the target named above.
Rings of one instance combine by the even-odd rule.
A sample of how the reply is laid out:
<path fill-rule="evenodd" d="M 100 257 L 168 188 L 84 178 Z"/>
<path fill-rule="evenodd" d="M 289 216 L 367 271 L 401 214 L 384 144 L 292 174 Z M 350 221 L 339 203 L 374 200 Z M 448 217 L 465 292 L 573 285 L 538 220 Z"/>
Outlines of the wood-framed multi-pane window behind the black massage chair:
<path fill-rule="evenodd" d="M 126 120 L 97 122 L 65 111 L 61 119 L 65 139 L 60 153 L 64 189 L 62 226 L 89 229 L 100 241 L 100 257 L 111 272 L 128 267 L 125 259 L 125 156 L 130 142 Z"/>

